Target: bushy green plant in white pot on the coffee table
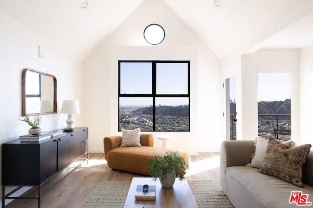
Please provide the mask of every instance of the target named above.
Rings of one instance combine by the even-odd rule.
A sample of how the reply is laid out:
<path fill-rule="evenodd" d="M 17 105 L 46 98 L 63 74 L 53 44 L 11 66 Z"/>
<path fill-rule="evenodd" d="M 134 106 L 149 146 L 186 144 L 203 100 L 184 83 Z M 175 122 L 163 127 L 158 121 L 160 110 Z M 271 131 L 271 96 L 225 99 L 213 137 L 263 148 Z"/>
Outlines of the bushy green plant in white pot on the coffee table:
<path fill-rule="evenodd" d="M 177 151 L 167 151 L 163 157 L 153 157 L 148 165 L 148 171 L 154 177 L 153 180 L 156 181 L 159 178 L 164 188 L 173 187 L 176 177 L 179 177 L 179 181 L 184 180 L 188 169 L 188 162 Z"/>

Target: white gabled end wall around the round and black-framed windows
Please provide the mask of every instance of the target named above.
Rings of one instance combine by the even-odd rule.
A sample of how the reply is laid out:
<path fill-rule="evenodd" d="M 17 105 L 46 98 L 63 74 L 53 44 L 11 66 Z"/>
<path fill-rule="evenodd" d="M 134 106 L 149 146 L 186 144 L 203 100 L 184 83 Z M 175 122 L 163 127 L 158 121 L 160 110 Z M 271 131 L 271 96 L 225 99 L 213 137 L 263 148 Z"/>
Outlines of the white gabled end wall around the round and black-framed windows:
<path fill-rule="evenodd" d="M 144 28 L 151 23 L 165 30 L 160 45 L 151 46 L 143 38 Z M 118 133 L 119 59 L 191 60 L 191 131 L 173 132 L 177 139 L 171 141 L 171 148 L 191 154 L 220 150 L 220 60 L 163 1 L 147 0 L 84 63 L 88 109 L 84 120 L 89 126 L 90 151 L 103 152 L 103 138 Z M 155 139 L 155 146 L 161 147 L 161 141 Z"/>

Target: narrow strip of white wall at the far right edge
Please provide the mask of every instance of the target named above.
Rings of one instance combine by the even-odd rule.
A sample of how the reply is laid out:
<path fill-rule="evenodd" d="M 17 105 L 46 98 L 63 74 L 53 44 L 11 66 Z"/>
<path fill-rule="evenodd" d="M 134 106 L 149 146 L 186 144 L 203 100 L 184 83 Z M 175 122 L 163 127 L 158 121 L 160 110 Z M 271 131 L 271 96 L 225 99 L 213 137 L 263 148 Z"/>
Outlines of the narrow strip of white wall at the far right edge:
<path fill-rule="evenodd" d="M 312 144 L 313 45 L 300 50 L 300 137 L 301 144 Z"/>

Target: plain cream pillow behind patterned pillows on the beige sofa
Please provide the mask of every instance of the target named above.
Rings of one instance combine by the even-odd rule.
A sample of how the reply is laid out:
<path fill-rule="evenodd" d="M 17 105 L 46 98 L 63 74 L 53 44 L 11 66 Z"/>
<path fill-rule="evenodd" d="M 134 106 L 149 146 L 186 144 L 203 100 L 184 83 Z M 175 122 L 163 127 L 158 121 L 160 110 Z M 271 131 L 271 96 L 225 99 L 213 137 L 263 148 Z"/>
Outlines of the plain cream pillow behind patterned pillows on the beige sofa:
<path fill-rule="evenodd" d="M 263 160 L 266 155 L 266 150 L 268 148 L 268 138 L 265 138 L 263 136 L 258 136 L 256 138 L 256 143 L 255 143 L 255 153 L 252 155 L 252 161 L 250 164 L 248 164 L 249 167 L 253 168 L 261 168 L 263 164 Z M 295 142 L 292 140 L 288 141 L 283 141 L 283 140 L 278 140 L 284 145 L 286 145 L 288 148 L 292 148 L 295 146 Z"/>

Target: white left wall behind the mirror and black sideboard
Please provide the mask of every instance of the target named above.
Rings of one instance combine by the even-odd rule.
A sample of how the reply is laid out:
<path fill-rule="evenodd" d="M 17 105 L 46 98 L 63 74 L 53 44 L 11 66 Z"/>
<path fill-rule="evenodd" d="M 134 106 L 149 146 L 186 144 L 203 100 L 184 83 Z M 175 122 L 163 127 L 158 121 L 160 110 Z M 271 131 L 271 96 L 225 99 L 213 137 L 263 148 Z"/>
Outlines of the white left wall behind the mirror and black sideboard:
<path fill-rule="evenodd" d="M 30 128 L 22 119 L 22 70 L 31 68 L 57 77 L 58 104 L 62 98 L 81 99 L 81 61 L 0 12 L 0 143 L 19 139 Z M 35 44 L 44 49 L 36 57 Z M 83 102 L 81 102 L 83 107 Z M 58 106 L 58 112 L 60 108 Z M 80 116 L 77 124 L 82 125 Z M 42 115 L 43 131 L 66 126 L 65 114 Z"/>

